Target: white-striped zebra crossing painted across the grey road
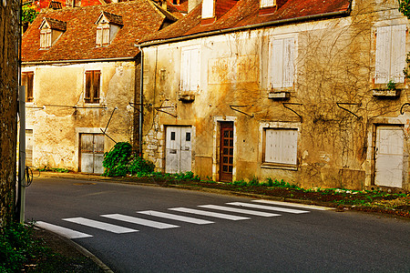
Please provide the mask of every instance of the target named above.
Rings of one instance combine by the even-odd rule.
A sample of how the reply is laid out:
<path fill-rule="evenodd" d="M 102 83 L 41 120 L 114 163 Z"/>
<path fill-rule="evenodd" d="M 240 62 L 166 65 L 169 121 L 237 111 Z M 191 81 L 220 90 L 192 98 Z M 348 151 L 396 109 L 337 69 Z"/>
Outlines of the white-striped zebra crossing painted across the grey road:
<path fill-rule="evenodd" d="M 263 204 L 263 205 L 261 205 Z M 62 220 L 69 223 L 74 223 L 76 226 L 92 227 L 96 229 L 105 230 L 115 234 L 138 232 L 138 229 L 130 227 L 122 227 L 117 224 L 110 224 L 104 219 L 113 219 L 118 223 L 126 222 L 136 226 L 145 226 L 158 229 L 177 228 L 174 224 L 165 223 L 166 219 L 176 222 L 190 223 L 195 225 L 210 225 L 216 222 L 200 217 L 210 217 L 218 219 L 225 219 L 231 221 L 250 220 L 251 217 L 280 217 L 283 214 L 304 214 L 311 212 L 311 209 L 325 210 L 324 207 L 312 207 L 301 204 L 289 204 L 279 201 L 271 200 L 251 200 L 251 202 L 229 202 L 227 206 L 220 205 L 199 205 L 199 208 L 191 207 L 169 207 L 169 212 L 161 212 L 156 210 L 136 211 L 136 216 L 128 216 L 122 214 L 106 214 L 100 215 L 102 220 L 88 219 L 85 217 L 70 217 Z M 286 206 L 286 207 L 278 207 Z M 294 207 L 294 208 L 289 208 Z M 296 208 L 297 207 L 297 208 Z M 275 212 L 275 213 L 272 213 Z M 233 214 L 232 214 L 233 213 Z M 182 214 L 182 215 L 181 215 Z M 189 216 L 186 216 L 189 215 Z M 241 216 L 240 216 L 241 215 Z M 243 215 L 243 216 L 242 216 Z M 137 217 L 141 216 L 141 217 Z M 160 220 L 149 220 L 143 216 L 158 217 Z M 192 217 L 194 216 L 194 217 Z M 165 220 L 164 220 L 165 219 Z M 44 221 L 37 221 L 37 227 L 42 227 L 55 232 L 66 238 L 91 238 L 93 235 L 83 233 L 71 228 L 56 226 L 54 224 L 46 223 Z"/>

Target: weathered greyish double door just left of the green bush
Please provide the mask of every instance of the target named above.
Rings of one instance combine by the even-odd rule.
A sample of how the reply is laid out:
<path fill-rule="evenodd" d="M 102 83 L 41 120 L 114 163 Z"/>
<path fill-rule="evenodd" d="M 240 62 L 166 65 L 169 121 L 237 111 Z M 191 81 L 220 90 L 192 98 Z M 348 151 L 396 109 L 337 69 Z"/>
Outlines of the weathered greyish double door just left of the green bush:
<path fill-rule="evenodd" d="M 102 165 L 104 159 L 104 135 L 102 134 L 81 134 L 81 172 L 83 173 L 104 173 Z"/>

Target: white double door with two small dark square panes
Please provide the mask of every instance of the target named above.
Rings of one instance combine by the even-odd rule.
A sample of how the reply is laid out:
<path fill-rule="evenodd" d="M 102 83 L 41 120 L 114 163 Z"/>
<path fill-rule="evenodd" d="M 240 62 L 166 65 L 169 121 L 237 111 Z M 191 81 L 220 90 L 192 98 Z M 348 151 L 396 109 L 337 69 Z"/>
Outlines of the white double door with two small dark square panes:
<path fill-rule="evenodd" d="M 167 126 L 165 172 L 170 174 L 191 170 L 192 140 L 188 126 Z"/>

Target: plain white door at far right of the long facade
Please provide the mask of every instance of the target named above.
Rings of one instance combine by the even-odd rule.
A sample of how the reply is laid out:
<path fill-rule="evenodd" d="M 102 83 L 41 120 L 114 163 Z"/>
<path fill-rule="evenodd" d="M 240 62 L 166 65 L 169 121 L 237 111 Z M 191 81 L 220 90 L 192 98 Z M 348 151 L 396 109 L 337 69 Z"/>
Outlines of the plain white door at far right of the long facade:
<path fill-rule="evenodd" d="M 377 126 L 374 184 L 402 187 L 405 136 L 401 126 Z"/>

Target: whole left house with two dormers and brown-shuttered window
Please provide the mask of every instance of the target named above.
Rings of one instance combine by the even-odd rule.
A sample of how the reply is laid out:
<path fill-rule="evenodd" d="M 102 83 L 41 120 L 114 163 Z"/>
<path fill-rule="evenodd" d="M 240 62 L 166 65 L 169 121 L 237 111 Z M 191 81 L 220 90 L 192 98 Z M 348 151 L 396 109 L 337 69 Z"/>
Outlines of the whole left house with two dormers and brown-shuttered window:
<path fill-rule="evenodd" d="M 39 14 L 23 36 L 27 165 L 102 173 L 138 122 L 135 44 L 175 20 L 150 0 Z"/>

